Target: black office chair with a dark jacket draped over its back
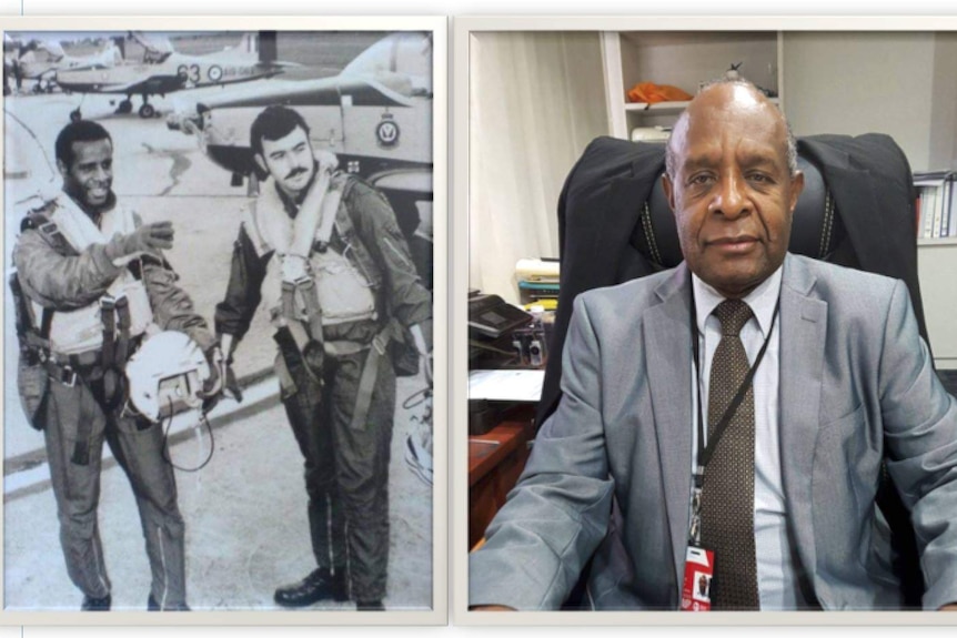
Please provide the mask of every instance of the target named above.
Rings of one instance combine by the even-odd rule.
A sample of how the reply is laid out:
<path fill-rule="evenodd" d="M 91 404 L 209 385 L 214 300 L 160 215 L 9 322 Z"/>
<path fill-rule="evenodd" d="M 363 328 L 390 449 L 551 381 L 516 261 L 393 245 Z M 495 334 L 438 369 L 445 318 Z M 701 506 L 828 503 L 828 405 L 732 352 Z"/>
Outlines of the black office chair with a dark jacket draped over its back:
<path fill-rule="evenodd" d="M 906 155 L 887 135 L 798 139 L 805 189 L 794 212 L 793 253 L 903 280 L 927 340 L 917 281 L 915 189 Z M 661 175 L 664 145 L 598 138 L 568 173 L 558 201 L 561 292 L 550 352 L 562 351 L 574 297 L 676 266 L 684 259 Z M 536 423 L 557 406 L 561 357 L 550 357 Z M 886 470 L 877 496 L 900 557 L 908 607 L 924 581 L 909 513 Z M 582 607 L 580 587 L 566 608 Z"/>

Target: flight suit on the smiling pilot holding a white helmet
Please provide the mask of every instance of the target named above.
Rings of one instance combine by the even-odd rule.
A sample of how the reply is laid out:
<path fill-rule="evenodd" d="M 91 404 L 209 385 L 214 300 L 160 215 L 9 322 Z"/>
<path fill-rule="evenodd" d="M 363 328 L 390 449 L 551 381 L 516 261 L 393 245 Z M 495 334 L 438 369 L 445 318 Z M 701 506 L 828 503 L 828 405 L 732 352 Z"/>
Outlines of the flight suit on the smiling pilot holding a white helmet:
<path fill-rule="evenodd" d="M 58 199 L 60 205 L 75 205 L 66 194 Z M 132 215 L 120 206 L 110 214 Z M 139 225 L 135 215 L 132 220 Z M 92 243 L 79 254 L 64 255 L 40 230 L 24 230 L 13 249 L 22 294 L 52 310 L 53 316 L 97 303 L 118 277 L 127 276 L 128 266 L 114 265 L 104 249 L 103 243 Z M 161 330 L 184 332 L 203 352 L 214 346 L 214 335 L 177 286 L 175 273 L 158 260 L 138 260 L 129 267 L 144 284 L 152 321 Z M 99 351 L 63 355 L 61 359 L 71 365 L 51 368 L 54 372 L 34 417 L 43 429 L 67 570 L 88 597 L 110 593 L 97 514 L 105 440 L 133 488 L 152 598 L 161 608 L 185 607 L 185 529 L 173 468 L 163 458 L 162 428 L 125 408 L 124 386 L 108 391 L 99 357 Z"/>

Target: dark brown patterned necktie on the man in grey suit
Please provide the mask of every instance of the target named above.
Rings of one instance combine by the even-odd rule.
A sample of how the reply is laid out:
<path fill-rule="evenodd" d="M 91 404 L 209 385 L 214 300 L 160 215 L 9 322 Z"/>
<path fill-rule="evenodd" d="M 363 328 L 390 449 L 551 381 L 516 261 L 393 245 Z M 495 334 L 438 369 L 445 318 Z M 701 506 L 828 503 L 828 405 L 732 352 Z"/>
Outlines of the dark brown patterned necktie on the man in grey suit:
<path fill-rule="evenodd" d="M 739 300 L 714 311 L 722 340 L 712 359 L 708 439 L 741 387 L 749 364 L 738 336 L 752 316 Z M 754 548 L 754 388 L 749 387 L 711 462 L 702 490 L 702 544 L 715 553 L 712 607 L 759 609 Z"/>

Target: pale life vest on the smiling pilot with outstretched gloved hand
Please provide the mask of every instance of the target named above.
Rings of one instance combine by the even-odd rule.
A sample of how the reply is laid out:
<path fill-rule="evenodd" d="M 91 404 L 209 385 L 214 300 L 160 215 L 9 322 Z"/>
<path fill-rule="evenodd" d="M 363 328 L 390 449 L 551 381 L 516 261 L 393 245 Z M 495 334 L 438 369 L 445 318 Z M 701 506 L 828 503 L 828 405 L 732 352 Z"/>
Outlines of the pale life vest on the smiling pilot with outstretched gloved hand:
<path fill-rule="evenodd" d="M 47 202 L 39 213 L 48 224 L 53 224 L 52 233 L 59 232 L 70 249 L 78 254 L 91 244 L 105 244 L 115 233 L 129 234 L 137 227 L 132 211 L 115 205 L 100 217 L 100 227 L 71 200 L 67 194 L 60 194 Z M 38 229 L 43 232 L 43 229 Z M 114 261 L 117 266 L 125 266 L 137 255 L 128 255 Z M 123 302 L 122 300 L 125 300 Z M 44 316 L 44 308 L 31 300 L 33 316 Z M 59 355 L 71 355 L 103 347 L 103 308 L 111 306 L 129 310 L 122 316 L 112 317 L 119 324 L 129 321 L 130 337 L 137 337 L 147 331 L 153 322 L 150 300 L 143 283 L 133 276 L 129 269 L 123 269 L 120 275 L 110 284 L 100 300 L 73 311 L 54 311 L 49 321 L 49 350 Z M 34 326 L 41 330 L 42 326 Z"/>

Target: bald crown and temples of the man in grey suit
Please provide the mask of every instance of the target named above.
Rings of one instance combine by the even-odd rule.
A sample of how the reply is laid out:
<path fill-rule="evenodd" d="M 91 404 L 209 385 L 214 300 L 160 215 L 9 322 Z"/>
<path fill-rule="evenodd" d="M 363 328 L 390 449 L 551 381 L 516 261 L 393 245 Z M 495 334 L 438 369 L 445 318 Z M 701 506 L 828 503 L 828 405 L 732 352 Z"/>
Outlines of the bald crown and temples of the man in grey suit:
<path fill-rule="evenodd" d="M 797 141 L 790 131 L 790 124 L 780 110 L 746 80 L 717 80 L 704 87 L 675 122 L 665 149 L 665 170 L 672 179 L 674 179 L 677 170 L 676 149 L 687 135 L 689 120 L 702 109 L 716 107 L 725 109 L 746 108 L 755 111 L 756 114 L 758 110 L 762 110 L 778 120 L 784 130 L 784 152 L 788 171 L 790 171 L 792 176 L 797 174 Z"/>

